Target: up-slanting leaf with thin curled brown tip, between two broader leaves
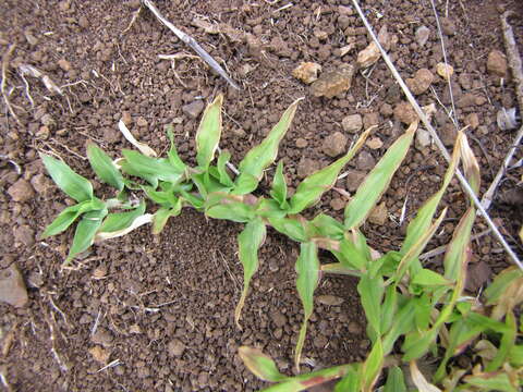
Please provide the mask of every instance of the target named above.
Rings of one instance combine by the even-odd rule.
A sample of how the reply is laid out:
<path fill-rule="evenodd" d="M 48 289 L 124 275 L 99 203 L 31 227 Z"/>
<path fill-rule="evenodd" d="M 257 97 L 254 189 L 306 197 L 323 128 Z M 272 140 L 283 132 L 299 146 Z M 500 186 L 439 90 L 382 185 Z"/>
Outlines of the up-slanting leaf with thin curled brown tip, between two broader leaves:
<path fill-rule="evenodd" d="M 297 185 L 297 189 L 290 200 L 291 207 L 289 213 L 299 213 L 305 208 L 313 206 L 320 199 L 324 193 L 335 185 L 341 169 L 343 169 L 364 145 L 365 139 L 373 128 L 374 127 L 369 127 L 365 131 L 345 156 L 311 174 Z"/>

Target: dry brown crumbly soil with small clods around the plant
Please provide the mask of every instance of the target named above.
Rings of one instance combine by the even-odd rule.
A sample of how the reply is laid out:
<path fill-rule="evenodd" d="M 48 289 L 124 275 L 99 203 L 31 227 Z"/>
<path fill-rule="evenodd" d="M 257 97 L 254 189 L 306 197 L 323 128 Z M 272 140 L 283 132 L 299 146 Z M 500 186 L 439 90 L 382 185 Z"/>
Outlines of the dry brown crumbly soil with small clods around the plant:
<path fill-rule="evenodd" d="M 498 1 L 436 1 L 441 16 L 448 14 L 446 45 L 454 66 L 454 99 L 473 94 L 472 102 L 459 105 L 461 124 L 477 114 L 478 126 L 469 131 L 471 145 L 481 161 L 483 191 L 500 167 L 513 133 L 500 131 L 496 112 L 516 106 L 510 77 L 500 84 L 486 70 L 488 53 L 504 51 Z M 242 270 L 236 257 L 235 236 L 240 224 L 206 220 L 191 210 L 171 219 L 159 236 L 149 228 L 95 246 L 75 264 L 61 270 L 72 232 L 38 240 L 52 217 L 66 204 L 63 194 L 44 172 L 38 151 L 54 151 L 82 174 L 93 177 L 85 160 L 87 140 L 95 140 L 113 157 L 130 145 L 118 132 L 123 117 L 142 142 L 165 151 L 163 126 L 174 123 L 179 150 L 194 159 L 194 135 L 198 119 L 182 107 L 203 99 L 209 102 L 223 93 L 224 128 L 221 147 L 232 152 L 233 163 L 267 134 L 280 113 L 297 97 L 305 96 L 294 124 L 282 142 L 280 159 L 288 180 L 295 187 L 311 167 L 332 161 L 324 152 L 328 135 L 343 132 L 348 114 L 360 113 L 365 125 L 378 124 L 374 136 L 384 146 L 364 148 L 350 169 L 366 171 L 404 130 L 392 114 L 402 100 L 382 61 L 369 82 L 358 73 L 349 93 L 332 99 L 314 98 L 308 86 L 292 76 L 301 61 L 319 63 L 325 71 L 354 62 L 356 52 L 369 42 L 355 14 L 340 17 L 339 5 L 349 0 L 292 1 L 172 0 L 157 5 L 174 25 L 191 34 L 220 63 L 227 64 L 240 91 L 228 87 L 198 59 L 184 57 L 174 62 L 158 54 L 193 52 L 146 10 L 127 29 L 139 2 L 0 0 L 0 49 L 16 44 L 7 73 L 9 99 L 20 123 L 0 114 L 0 248 L 1 268 L 15 264 L 28 291 L 21 308 L 0 304 L 0 370 L 14 391 L 251 391 L 264 385 L 243 366 L 238 347 L 258 346 L 271 355 L 284 372 L 291 363 L 302 319 L 294 289 L 294 260 L 299 246 L 269 231 L 262 249 L 262 267 L 243 313 L 241 331 L 233 322 L 240 295 Z M 376 26 L 387 25 L 393 39 L 392 59 L 404 77 L 442 61 L 435 17 L 428 0 L 368 0 L 362 7 Z M 523 15 L 522 3 L 507 7 Z M 380 16 L 381 17 L 378 17 Z M 227 34 L 211 35 L 194 25 L 199 19 L 222 23 L 243 32 L 238 40 Z M 512 20 L 523 41 L 522 19 Z M 422 48 L 414 32 L 430 29 Z M 326 34 L 325 34 L 326 33 Z M 251 34 L 254 40 L 247 40 Z M 340 57 L 340 48 L 355 35 L 356 46 Z M 319 38 L 321 39 L 319 39 Z M 64 95 L 50 95 L 40 81 L 27 77 L 28 93 L 16 70 L 32 64 L 45 72 Z M 434 88 L 449 107 L 447 85 L 437 78 Z M 476 99 L 477 98 L 477 99 Z M 422 105 L 436 102 L 435 124 L 452 144 L 454 128 L 427 91 Z M 349 139 L 355 135 L 346 134 Z M 519 152 L 519 158 L 521 154 Z M 363 231 L 372 246 L 396 249 L 405 224 L 398 224 L 405 196 L 406 217 L 434 192 L 445 164 L 434 147 L 413 146 L 404 164 L 384 195 L 387 217 L 384 224 L 368 223 Z M 269 175 L 270 177 L 270 175 Z M 23 195 L 14 200 L 8 189 L 24 180 Z M 507 196 L 518 189 L 521 171 L 509 173 L 491 212 L 508 234 L 521 225 L 521 197 Z M 27 184 L 31 184 L 27 186 Z M 264 183 L 260 192 L 267 191 Z M 96 186 L 104 191 L 99 185 Z M 353 184 L 340 180 L 337 187 Z M 513 191 L 511 191 L 513 192 Z M 519 188 L 521 196 L 521 188 Z M 27 197 L 25 197 L 25 196 Z M 512 198 L 511 198 L 512 197 Z M 344 199 L 330 192 L 312 208 L 309 216 L 327 211 L 341 218 Z M 519 203 L 519 205 L 518 205 Z M 445 205 L 450 207 L 443 230 L 430 246 L 446 244 L 466 198 L 457 184 Z M 514 205 L 515 204 L 515 205 Z M 485 225 L 478 221 L 475 232 Z M 513 242 L 511 242 L 516 246 Z M 471 275 L 478 277 L 478 290 L 507 265 L 500 246 L 484 236 L 474 243 Z M 516 247 L 521 253 L 521 248 Z M 328 255 L 321 255 L 329 261 Z M 439 268 L 440 259 L 433 260 Z M 474 279 L 476 279 L 474 278 Z M 304 357 L 316 367 L 363 358 L 369 342 L 365 318 L 350 278 L 324 278 L 318 294 L 342 298 L 341 306 L 316 304 Z M 93 333 L 95 332 L 95 333 Z M 107 364 L 114 366 L 105 368 Z M 309 369 L 307 365 L 302 367 Z M 3 387 L 2 387 L 3 388 Z"/>

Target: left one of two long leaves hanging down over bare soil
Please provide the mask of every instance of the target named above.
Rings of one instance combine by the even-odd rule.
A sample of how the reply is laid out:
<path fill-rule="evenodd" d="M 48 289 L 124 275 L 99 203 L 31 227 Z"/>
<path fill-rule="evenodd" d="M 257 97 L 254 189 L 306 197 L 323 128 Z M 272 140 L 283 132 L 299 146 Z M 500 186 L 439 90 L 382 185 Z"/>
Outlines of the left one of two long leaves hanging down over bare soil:
<path fill-rule="evenodd" d="M 245 225 L 245 229 L 238 236 L 239 257 L 243 266 L 243 291 L 242 296 L 234 310 L 234 321 L 240 326 L 240 316 L 248 293 L 251 279 L 258 269 L 258 249 L 264 244 L 266 235 L 265 223 L 256 218 Z"/>

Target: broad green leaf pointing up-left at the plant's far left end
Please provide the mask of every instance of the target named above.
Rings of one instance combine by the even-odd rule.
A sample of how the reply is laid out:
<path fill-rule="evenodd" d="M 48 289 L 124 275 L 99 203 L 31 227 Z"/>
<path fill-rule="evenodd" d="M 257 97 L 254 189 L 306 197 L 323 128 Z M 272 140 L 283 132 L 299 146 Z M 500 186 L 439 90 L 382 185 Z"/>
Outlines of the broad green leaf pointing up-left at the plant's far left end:
<path fill-rule="evenodd" d="M 47 172 L 60 189 L 76 201 L 93 198 L 93 185 L 82 175 L 76 174 L 66 163 L 40 152 Z"/>

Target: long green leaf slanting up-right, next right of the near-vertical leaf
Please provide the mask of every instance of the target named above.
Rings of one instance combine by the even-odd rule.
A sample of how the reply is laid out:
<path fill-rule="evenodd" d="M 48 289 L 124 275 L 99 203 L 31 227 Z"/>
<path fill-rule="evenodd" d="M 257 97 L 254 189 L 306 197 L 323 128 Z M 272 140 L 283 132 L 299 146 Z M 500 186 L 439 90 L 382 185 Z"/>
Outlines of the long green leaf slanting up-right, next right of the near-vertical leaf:
<path fill-rule="evenodd" d="M 296 99 L 285 110 L 278 124 L 272 127 L 267 137 L 259 145 L 253 147 L 240 162 L 240 175 L 236 177 L 234 194 L 245 195 L 256 189 L 264 170 L 275 161 L 278 155 L 278 146 L 291 125 L 294 113 L 296 112 L 297 102 L 301 99 L 302 98 Z M 247 181 L 244 180 L 244 176 L 247 176 Z M 255 182 L 253 182 L 253 180 Z"/>

